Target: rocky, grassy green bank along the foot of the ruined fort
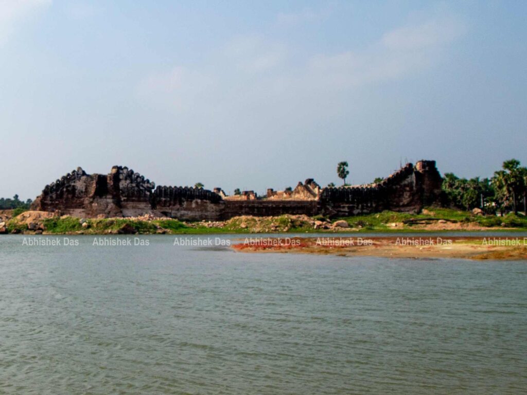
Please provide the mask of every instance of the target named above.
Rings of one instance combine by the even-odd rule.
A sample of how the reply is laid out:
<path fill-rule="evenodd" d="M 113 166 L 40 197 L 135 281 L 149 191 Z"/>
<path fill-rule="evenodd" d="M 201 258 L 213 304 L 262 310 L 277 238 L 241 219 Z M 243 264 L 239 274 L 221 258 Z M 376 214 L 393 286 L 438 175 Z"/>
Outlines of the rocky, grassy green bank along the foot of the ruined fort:
<path fill-rule="evenodd" d="M 239 216 L 228 221 L 182 222 L 176 219 L 79 219 L 46 212 L 23 212 L 6 221 L 6 233 L 45 234 L 214 234 L 357 233 L 527 230 L 524 215 L 503 217 L 429 208 L 420 214 L 383 211 L 329 220 L 323 216 Z"/>

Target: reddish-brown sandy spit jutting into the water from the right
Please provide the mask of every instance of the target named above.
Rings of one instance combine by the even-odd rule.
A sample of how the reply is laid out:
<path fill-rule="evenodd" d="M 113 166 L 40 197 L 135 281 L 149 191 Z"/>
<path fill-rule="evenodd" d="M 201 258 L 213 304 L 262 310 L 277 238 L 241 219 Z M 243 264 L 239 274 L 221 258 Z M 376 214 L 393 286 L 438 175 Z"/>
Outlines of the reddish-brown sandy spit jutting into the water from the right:
<path fill-rule="evenodd" d="M 232 247 L 240 252 L 382 256 L 385 258 L 458 258 L 527 260 L 527 238 L 515 237 L 319 237 L 245 238 Z"/>

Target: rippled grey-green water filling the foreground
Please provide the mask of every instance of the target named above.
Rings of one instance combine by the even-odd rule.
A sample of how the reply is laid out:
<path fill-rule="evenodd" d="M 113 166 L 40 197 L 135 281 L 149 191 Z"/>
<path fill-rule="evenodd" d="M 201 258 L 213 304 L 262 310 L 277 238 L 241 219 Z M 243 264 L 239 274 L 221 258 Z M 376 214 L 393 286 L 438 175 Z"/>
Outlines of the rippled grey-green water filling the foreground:
<path fill-rule="evenodd" d="M 527 392 L 527 262 L 24 237 L 0 237 L 2 394 Z"/>

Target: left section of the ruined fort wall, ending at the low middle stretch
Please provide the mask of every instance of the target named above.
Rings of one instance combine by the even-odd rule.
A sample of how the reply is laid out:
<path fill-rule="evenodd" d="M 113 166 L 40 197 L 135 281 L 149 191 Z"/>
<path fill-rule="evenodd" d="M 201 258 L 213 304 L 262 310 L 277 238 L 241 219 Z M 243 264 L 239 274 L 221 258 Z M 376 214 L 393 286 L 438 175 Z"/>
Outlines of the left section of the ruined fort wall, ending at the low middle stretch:
<path fill-rule="evenodd" d="M 221 197 L 211 191 L 158 186 L 126 166 L 109 174 L 86 174 L 80 167 L 50 185 L 32 205 L 33 210 L 58 211 L 79 218 L 129 217 L 144 214 L 180 219 L 219 217 Z"/>

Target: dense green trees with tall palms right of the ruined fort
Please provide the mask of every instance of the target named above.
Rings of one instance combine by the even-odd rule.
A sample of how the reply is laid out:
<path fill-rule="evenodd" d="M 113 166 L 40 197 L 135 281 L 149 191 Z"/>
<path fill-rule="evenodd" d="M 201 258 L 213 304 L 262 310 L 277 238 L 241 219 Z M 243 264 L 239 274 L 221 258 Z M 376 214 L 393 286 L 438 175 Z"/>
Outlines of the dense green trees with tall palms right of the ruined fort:
<path fill-rule="evenodd" d="M 445 173 L 443 177 L 443 201 L 458 209 L 480 208 L 487 213 L 525 211 L 527 194 L 527 167 L 511 159 L 503 162 L 501 170 L 488 179 L 474 177 L 470 180 Z"/>

